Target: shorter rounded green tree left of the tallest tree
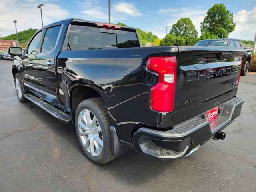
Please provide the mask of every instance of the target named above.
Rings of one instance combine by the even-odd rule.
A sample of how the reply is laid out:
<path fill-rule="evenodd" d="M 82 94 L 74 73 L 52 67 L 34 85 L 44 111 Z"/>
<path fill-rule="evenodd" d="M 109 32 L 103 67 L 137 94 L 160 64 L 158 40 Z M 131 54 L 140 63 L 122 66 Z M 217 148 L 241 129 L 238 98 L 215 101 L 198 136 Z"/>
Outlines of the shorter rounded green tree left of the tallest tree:
<path fill-rule="evenodd" d="M 172 25 L 170 34 L 180 37 L 197 38 L 197 31 L 190 18 L 181 18 L 176 24 Z"/>

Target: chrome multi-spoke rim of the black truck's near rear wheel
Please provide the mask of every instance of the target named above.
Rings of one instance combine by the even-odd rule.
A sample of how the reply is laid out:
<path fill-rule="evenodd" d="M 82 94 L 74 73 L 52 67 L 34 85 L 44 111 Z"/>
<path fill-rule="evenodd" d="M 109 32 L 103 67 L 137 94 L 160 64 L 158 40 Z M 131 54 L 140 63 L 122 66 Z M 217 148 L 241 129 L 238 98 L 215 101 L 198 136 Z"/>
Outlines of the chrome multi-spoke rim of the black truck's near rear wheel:
<path fill-rule="evenodd" d="M 84 109 L 78 116 L 78 132 L 83 146 L 92 156 L 99 156 L 103 149 L 103 137 L 96 116 Z"/>

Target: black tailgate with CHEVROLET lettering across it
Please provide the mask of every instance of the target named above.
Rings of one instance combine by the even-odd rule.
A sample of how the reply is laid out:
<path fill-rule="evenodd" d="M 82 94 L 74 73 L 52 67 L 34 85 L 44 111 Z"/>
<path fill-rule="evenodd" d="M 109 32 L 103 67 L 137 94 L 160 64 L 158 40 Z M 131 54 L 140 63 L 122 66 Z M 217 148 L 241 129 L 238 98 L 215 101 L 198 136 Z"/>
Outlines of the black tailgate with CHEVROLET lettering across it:
<path fill-rule="evenodd" d="M 236 95 L 241 49 L 178 46 L 173 125 Z"/>

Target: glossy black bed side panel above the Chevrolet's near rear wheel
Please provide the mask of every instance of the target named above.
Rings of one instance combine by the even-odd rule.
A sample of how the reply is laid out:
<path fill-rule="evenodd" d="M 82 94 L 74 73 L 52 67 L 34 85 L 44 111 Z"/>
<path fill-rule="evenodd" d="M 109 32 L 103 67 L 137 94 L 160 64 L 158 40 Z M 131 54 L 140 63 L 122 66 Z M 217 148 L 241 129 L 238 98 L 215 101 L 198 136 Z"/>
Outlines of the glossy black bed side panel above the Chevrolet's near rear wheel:
<path fill-rule="evenodd" d="M 178 48 L 119 48 L 105 50 L 61 51 L 58 56 L 58 81 L 70 106 L 69 95 L 75 85 L 98 91 L 108 108 L 111 124 L 120 140 L 130 142 L 131 132 L 138 126 L 159 125 L 161 115 L 149 108 L 149 88 L 153 76 L 144 67 L 149 56 L 176 55 Z M 66 99 L 68 98 L 68 100 Z M 171 118 L 170 118 L 171 119 Z"/>

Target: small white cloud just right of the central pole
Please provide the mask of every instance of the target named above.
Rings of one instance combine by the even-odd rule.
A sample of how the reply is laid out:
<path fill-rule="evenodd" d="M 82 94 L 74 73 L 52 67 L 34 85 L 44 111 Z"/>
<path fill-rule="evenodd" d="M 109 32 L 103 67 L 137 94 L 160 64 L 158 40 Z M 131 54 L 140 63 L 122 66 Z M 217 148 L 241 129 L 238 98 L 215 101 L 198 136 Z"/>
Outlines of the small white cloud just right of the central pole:
<path fill-rule="evenodd" d="M 130 16 L 141 16 L 142 13 L 131 3 L 119 2 L 113 5 L 113 11 L 117 13 L 127 14 Z"/>

